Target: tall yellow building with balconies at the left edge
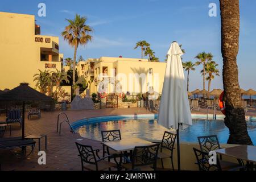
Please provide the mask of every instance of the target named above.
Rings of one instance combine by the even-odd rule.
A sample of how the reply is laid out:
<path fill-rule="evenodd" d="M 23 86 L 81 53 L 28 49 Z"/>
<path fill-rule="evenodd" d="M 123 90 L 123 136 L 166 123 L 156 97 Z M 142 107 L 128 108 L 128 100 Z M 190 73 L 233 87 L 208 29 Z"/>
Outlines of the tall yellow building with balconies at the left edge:
<path fill-rule="evenodd" d="M 38 69 L 59 71 L 63 54 L 59 53 L 59 38 L 40 35 L 35 16 L 0 12 L 0 89 L 13 89 L 20 82 L 35 88 Z"/>

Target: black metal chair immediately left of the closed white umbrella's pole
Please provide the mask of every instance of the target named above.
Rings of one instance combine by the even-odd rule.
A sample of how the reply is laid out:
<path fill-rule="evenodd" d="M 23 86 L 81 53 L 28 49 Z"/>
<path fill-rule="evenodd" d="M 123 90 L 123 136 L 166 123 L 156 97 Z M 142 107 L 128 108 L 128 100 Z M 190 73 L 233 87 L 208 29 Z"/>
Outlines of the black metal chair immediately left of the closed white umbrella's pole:
<path fill-rule="evenodd" d="M 160 152 L 158 152 L 158 159 L 161 159 L 162 168 L 164 168 L 163 159 L 170 158 L 172 170 L 174 170 L 174 162 L 173 162 L 173 153 L 174 153 L 174 144 L 176 140 L 176 134 L 170 133 L 168 131 L 164 132 L 162 142 L 160 143 Z M 170 154 L 164 153 L 163 149 L 169 150 Z"/>

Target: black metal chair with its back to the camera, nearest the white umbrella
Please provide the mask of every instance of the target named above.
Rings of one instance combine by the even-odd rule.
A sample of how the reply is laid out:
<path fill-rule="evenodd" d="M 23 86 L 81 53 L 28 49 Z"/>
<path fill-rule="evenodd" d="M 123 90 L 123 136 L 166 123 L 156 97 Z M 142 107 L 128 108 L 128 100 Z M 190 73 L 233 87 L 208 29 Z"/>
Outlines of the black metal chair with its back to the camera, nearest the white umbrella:
<path fill-rule="evenodd" d="M 130 163 L 122 164 L 122 167 L 126 170 L 155 171 L 158 150 L 159 143 L 151 146 L 135 147 Z M 151 168 L 151 165 L 153 168 Z"/>

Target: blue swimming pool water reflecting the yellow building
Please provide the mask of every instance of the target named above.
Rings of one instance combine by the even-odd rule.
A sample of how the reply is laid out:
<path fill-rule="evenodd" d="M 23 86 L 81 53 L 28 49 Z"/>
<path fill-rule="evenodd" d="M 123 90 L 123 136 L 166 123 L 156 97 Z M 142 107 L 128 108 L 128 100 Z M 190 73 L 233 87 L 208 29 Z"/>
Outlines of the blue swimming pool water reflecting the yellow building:
<path fill-rule="evenodd" d="M 101 140 L 101 130 L 121 130 L 122 138 L 142 138 L 151 140 L 160 140 L 164 131 L 163 126 L 158 125 L 156 119 L 125 119 L 117 121 L 106 121 L 88 123 L 77 128 L 77 131 L 84 138 Z M 251 140 L 256 143 L 256 122 L 247 122 L 247 129 Z M 180 140 L 182 142 L 197 142 L 198 136 L 214 135 L 218 136 L 220 143 L 226 143 L 229 137 L 229 130 L 224 121 L 207 121 L 204 119 L 193 119 L 193 125 L 180 131 Z"/>

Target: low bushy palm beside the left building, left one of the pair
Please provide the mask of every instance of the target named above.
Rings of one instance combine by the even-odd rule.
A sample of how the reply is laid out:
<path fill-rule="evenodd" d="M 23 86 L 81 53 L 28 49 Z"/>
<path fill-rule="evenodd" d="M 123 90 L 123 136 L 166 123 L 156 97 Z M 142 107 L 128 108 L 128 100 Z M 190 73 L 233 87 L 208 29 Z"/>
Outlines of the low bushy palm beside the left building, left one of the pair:
<path fill-rule="evenodd" d="M 40 89 L 40 92 L 43 94 L 46 94 L 48 86 L 51 84 L 51 75 L 49 73 L 49 70 L 41 71 L 40 69 L 39 73 L 36 73 L 33 77 L 36 81 L 36 88 Z"/>

